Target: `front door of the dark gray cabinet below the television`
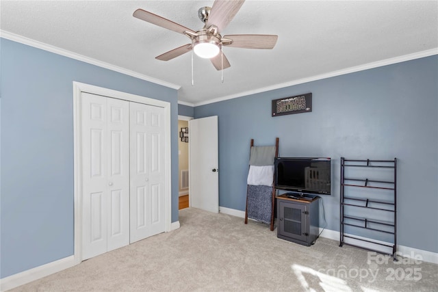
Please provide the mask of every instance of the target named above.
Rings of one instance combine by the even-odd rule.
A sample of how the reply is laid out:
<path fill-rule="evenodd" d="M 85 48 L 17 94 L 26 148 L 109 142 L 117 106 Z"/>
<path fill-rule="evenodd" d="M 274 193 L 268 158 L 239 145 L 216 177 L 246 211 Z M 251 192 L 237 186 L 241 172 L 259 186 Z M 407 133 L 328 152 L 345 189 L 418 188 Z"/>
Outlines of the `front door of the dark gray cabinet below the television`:
<path fill-rule="evenodd" d="M 280 202 L 280 233 L 293 239 L 306 241 L 307 204 Z"/>

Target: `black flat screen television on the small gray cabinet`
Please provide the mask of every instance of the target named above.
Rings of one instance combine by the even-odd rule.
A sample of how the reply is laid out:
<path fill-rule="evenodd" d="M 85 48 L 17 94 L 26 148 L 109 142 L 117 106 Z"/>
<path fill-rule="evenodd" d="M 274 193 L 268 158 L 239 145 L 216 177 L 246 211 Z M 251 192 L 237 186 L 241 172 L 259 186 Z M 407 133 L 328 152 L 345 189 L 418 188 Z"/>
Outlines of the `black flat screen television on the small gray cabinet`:
<path fill-rule="evenodd" d="M 331 194 L 331 159 L 276 157 L 275 188 L 297 196 Z"/>

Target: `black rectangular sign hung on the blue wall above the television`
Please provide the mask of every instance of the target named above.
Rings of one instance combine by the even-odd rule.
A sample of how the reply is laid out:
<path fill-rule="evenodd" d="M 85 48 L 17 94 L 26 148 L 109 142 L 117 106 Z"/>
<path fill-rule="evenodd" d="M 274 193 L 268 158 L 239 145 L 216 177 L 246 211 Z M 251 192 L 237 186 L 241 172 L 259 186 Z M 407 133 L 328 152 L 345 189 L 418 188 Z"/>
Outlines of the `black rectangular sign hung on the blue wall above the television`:
<path fill-rule="evenodd" d="M 311 93 L 272 100 L 273 117 L 289 114 L 307 113 L 309 111 L 312 111 Z"/>

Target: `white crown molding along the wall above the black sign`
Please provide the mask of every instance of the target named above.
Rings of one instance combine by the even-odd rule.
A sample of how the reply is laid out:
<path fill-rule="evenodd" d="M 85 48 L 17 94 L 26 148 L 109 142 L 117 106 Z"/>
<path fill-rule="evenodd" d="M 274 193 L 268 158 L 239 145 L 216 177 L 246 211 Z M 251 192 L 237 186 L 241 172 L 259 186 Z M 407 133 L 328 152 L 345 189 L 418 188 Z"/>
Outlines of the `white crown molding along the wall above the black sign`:
<path fill-rule="evenodd" d="M 438 48 L 430 49 L 430 50 L 426 50 L 426 51 L 421 51 L 421 52 L 417 52 L 417 53 L 412 53 L 412 54 L 408 54 L 408 55 L 402 55 L 399 57 L 392 57 L 389 59 L 383 59 L 383 60 L 377 61 L 377 62 L 372 62 L 372 63 L 368 63 L 368 64 L 363 64 L 363 65 L 359 65 L 359 66 L 355 66 L 355 67 L 350 67 L 350 68 L 346 68 L 346 69 L 342 69 L 342 70 L 329 72 L 329 73 L 324 73 L 321 75 L 315 75 L 315 76 L 307 77 L 307 78 L 303 78 L 303 79 L 297 79 L 297 80 L 289 81 L 289 82 L 285 82 L 285 83 L 279 83 L 276 85 L 270 85 L 270 86 L 265 87 L 265 88 L 257 88 L 255 90 L 248 90 L 246 92 L 240 92 L 237 94 L 222 96 L 219 98 L 211 99 L 209 101 L 201 101 L 200 103 L 194 103 L 194 105 L 192 105 L 192 106 L 198 107 L 200 105 L 209 105 L 210 103 L 218 103 L 220 101 L 227 101 L 227 100 L 233 99 L 233 98 L 248 96 L 251 94 L 257 94 L 257 93 L 261 93 L 261 92 L 267 92 L 267 91 L 276 90 L 279 88 L 286 88 L 286 87 L 289 87 L 292 85 L 298 85 L 298 84 L 307 83 L 307 82 L 311 82 L 311 81 L 317 81 L 317 80 L 326 79 L 326 78 L 330 78 L 330 77 L 336 77 L 339 75 L 346 75 L 349 73 L 359 72 L 359 71 L 368 70 L 368 69 L 377 68 L 377 67 L 382 67 L 382 66 L 387 66 L 387 65 L 391 65 L 391 64 L 397 64 L 397 63 L 401 63 L 401 62 L 410 61 L 412 59 L 420 59 L 422 57 L 429 57 L 431 55 L 438 55 Z"/>

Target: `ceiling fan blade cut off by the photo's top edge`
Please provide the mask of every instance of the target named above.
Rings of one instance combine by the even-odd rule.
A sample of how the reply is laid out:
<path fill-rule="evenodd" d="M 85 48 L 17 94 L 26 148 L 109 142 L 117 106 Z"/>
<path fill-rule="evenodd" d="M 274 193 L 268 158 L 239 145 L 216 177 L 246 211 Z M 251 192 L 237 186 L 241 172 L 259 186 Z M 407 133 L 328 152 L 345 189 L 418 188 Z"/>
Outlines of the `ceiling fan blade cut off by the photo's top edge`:
<path fill-rule="evenodd" d="M 240 10 L 240 7 L 244 1 L 245 0 L 214 1 L 213 7 L 211 8 L 207 19 L 207 23 L 205 23 L 205 27 L 208 28 L 211 25 L 215 25 L 218 27 L 219 32 L 222 31 L 225 27 L 227 27 L 230 21 L 233 20 L 235 14 Z"/>

